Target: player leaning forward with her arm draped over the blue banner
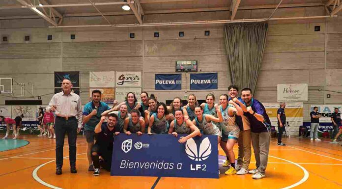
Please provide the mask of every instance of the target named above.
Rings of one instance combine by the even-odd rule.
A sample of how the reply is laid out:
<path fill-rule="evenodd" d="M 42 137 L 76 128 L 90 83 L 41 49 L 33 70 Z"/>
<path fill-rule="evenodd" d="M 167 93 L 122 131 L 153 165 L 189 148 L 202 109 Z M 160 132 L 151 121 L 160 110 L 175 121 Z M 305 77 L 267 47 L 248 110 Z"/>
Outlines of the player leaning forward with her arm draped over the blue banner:
<path fill-rule="evenodd" d="M 171 122 L 169 134 L 177 137 L 178 134 L 186 134 L 187 136 L 180 137 L 178 142 L 184 143 L 189 138 L 199 135 L 199 129 L 189 120 L 184 119 L 183 111 L 181 109 L 177 109 L 175 111 L 175 120 Z M 191 131 L 193 131 L 191 133 Z"/>

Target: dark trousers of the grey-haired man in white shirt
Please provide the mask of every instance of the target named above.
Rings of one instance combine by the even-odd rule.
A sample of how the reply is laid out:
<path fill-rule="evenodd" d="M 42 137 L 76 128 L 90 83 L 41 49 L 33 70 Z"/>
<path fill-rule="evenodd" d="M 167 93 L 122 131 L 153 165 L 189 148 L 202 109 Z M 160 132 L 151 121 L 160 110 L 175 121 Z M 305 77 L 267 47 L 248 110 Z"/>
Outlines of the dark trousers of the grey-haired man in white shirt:
<path fill-rule="evenodd" d="M 65 133 L 68 135 L 69 144 L 69 161 L 70 166 L 76 166 L 76 138 L 77 138 L 77 119 L 56 117 L 55 134 L 56 134 L 56 166 L 63 166 L 63 147 Z"/>

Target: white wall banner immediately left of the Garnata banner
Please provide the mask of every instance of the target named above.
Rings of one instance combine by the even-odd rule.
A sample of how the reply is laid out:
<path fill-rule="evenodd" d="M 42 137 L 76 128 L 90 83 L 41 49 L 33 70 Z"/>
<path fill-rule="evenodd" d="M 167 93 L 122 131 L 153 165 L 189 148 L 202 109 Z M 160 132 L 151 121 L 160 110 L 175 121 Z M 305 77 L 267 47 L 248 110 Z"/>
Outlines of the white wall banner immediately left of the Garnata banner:
<path fill-rule="evenodd" d="M 115 72 L 89 72 L 89 87 L 114 87 Z"/>

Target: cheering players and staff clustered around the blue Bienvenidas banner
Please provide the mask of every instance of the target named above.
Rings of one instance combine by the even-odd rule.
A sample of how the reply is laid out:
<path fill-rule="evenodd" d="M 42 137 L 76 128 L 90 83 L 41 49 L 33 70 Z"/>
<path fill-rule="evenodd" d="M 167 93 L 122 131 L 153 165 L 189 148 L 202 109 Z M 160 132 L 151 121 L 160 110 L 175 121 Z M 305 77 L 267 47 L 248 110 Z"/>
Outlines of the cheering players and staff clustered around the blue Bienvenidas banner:
<path fill-rule="evenodd" d="M 253 174 L 252 178 L 261 179 L 265 176 L 271 123 L 263 105 L 253 98 L 252 90 L 244 88 L 238 97 L 236 85 L 228 87 L 228 95 L 222 94 L 219 103 L 215 96 L 206 95 L 206 103 L 199 104 L 195 94 L 190 94 L 187 104 L 175 97 L 170 106 L 158 102 L 154 95 L 141 93 L 139 103 L 135 94 L 127 93 L 122 103 L 114 102 L 113 108 L 100 101 L 101 91 L 92 91 L 92 102 L 83 109 L 83 123 L 88 143 L 89 171 L 99 175 L 100 166 L 110 170 L 113 135 L 154 135 L 170 134 L 178 137 L 180 143 L 201 135 L 216 135 L 218 142 L 226 154 L 223 163 L 228 167 L 226 175 Z M 103 124 L 108 117 L 107 125 Z M 96 143 L 94 138 L 97 134 Z M 256 157 L 256 168 L 249 170 L 251 161 L 251 141 Z M 233 147 L 238 143 L 238 161 L 235 164 Z M 101 157 L 101 158 L 100 158 Z"/>

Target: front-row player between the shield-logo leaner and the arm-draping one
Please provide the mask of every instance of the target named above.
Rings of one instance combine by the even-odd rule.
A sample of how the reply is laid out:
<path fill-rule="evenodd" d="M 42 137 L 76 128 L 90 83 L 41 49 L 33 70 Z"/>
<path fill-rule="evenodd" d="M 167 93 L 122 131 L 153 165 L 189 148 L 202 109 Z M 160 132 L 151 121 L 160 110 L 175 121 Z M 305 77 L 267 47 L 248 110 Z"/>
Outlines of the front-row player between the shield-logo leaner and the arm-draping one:
<path fill-rule="evenodd" d="M 169 130 L 169 111 L 164 103 L 158 103 L 157 112 L 153 113 L 148 120 L 147 134 L 167 134 Z"/>

